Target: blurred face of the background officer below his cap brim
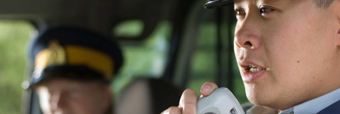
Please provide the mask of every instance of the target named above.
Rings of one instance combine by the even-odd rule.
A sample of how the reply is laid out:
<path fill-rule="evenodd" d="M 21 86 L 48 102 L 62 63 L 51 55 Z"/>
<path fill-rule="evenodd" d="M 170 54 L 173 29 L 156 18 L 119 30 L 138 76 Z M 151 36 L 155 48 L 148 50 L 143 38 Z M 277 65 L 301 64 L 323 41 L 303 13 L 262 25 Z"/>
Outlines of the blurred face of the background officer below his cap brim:
<path fill-rule="evenodd" d="M 111 107 L 109 86 L 97 81 L 58 79 L 36 89 L 44 114 L 103 114 Z"/>

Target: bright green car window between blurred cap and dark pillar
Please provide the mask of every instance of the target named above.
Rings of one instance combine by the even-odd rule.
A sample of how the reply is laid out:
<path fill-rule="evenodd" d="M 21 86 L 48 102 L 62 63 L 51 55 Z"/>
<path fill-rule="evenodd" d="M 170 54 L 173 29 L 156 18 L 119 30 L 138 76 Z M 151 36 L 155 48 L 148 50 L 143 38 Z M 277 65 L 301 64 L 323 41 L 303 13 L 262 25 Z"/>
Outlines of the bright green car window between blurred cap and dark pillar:
<path fill-rule="evenodd" d="M 124 29 L 135 27 L 131 23 L 126 24 L 129 26 L 125 26 Z M 121 89 L 134 78 L 161 78 L 167 61 L 171 30 L 170 21 L 160 21 L 157 23 L 153 33 L 145 40 L 120 43 L 124 63 L 113 82 L 116 98 Z"/>

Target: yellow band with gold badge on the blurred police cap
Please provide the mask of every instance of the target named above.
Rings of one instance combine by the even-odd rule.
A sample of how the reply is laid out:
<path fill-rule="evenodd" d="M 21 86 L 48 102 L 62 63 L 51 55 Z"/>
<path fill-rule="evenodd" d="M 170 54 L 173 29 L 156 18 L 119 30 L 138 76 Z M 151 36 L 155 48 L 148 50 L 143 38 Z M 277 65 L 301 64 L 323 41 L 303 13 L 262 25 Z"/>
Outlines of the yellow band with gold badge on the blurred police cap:
<path fill-rule="evenodd" d="M 36 54 L 33 78 L 39 79 L 43 70 L 53 66 L 84 66 L 106 80 L 113 79 L 115 72 L 114 60 L 108 54 L 79 45 L 61 46 L 58 40 L 51 40 L 49 47 Z"/>

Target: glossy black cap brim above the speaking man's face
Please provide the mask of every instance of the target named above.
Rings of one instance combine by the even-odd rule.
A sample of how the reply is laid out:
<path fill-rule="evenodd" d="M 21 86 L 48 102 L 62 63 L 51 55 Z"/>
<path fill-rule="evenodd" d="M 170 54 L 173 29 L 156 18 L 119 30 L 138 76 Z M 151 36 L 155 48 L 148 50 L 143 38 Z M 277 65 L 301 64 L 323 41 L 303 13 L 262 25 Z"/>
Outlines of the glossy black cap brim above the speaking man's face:
<path fill-rule="evenodd" d="M 236 0 L 208 0 L 204 2 L 203 7 L 205 9 L 212 9 L 212 8 L 228 5 L 230 3 L 233 3 L 234 1 Z"/>

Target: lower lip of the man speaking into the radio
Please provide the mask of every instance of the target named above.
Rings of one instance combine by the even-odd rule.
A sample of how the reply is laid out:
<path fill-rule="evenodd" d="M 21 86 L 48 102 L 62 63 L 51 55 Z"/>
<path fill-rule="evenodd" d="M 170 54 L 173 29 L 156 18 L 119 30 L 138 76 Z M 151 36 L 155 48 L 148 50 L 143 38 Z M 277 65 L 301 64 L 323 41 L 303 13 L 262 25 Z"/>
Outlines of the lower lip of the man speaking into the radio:
<path fill-rule="evenodd" d="M 263 76 L 263 74 L 265 74 L 267 70 L 261 70 L 258 72 L 250 72 L 249 70 L 246 70 L 243 72 L 242 75 L 242 80 L 245 83 L 251 83 L 256 81 L 257 79 L 259 79 L 261 76 Z"/>

